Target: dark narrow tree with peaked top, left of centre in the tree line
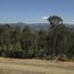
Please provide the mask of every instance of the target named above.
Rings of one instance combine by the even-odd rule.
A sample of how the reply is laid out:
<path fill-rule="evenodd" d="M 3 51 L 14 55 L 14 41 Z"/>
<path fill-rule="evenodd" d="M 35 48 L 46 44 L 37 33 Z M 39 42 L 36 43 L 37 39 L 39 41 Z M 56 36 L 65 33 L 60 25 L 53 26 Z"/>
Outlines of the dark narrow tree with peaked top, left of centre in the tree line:
<path fill-rule="evenodd" d="M 29 27 L 24 27 L 22 30 L 22 39 L 21 39 L 21 46 L 22 50 L 24 51 L 24 56 L 28 57 L 29 56 L 29 50 L 31 47 L 31 31 L 29 29 Z"/>

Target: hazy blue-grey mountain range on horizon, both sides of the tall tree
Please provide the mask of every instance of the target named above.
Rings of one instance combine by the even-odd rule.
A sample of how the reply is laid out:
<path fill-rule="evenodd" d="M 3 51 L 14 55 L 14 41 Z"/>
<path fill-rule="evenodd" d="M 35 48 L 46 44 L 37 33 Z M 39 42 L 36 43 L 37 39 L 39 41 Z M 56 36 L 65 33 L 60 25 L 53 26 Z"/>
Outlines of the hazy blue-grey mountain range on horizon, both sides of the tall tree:
<path fill-rule="evenodd" d="M 2 23 L 0 23 L 2 25 Z M 23 23 L 23 22 L 18 22 L 18 23 L 7 23 L 10 24 L 11 27 L 29 27 L 31 30 L 45 30 L 47 31 L 50 29 L 49 23 Z M 65 24 L 71 31 L 74 32 L 74 24 Z"/>

